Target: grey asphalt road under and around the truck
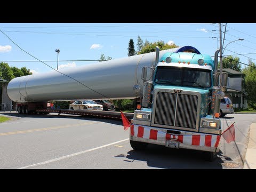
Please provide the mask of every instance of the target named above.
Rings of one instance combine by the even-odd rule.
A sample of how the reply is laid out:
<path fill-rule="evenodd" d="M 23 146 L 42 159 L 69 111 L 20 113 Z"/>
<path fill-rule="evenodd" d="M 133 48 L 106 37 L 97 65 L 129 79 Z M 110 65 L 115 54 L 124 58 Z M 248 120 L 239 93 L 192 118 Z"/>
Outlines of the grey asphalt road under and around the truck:
<path fill-rule="evenodd" d="M 236 142 L 221 137 L 220 152 L 207 162 L 202 151 L 149 145 L 134 151 L 122 121 L 75 115 L 21 115 L 0 123 L 0 169 L 243 169 L 251 123 L 256 114 L 228 114 Z"/>

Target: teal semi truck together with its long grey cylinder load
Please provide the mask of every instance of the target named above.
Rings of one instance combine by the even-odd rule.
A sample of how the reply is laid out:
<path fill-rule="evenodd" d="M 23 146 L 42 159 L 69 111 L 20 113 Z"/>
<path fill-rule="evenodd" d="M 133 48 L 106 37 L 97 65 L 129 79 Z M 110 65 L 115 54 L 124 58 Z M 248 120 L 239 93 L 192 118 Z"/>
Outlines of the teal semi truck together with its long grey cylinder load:
<path fill-rule="evenodd" d="M 51 100 L 139 98 L 130 125 L 133 149 L 153 143 L 202 150 L 213 161 L 227 85 L 227 74 L 218 70 L 219 51 L 212 60 L 193 46 L 156 47 L 153 53 L 17 77 L 7 85 L 7 94 L 22 114 L 44 112 Z"/>

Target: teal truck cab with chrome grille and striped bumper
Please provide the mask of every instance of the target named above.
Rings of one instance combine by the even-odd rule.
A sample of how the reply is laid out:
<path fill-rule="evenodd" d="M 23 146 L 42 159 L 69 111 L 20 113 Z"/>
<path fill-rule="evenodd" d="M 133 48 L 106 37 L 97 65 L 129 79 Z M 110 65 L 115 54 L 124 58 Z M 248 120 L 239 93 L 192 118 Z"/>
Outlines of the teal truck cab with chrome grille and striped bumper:
<path fill-rule="evenodd" d="M 227 74 L 214 61 L 191 46 L 165 53 L 151 67 L 142 69 L 144 87 L 141 105 L 130 125 L 130 144 L 143 150 L 148 143 L 170 148 L 207 151 L 217 157 L 221 137 L 220 99 L 224 97 Z M 147 78 L 147 70 L 150 77 Z M 221 75 L 222 82 L 218 85 Z M 138 86 L 134 91 L 138 92 Z"/>

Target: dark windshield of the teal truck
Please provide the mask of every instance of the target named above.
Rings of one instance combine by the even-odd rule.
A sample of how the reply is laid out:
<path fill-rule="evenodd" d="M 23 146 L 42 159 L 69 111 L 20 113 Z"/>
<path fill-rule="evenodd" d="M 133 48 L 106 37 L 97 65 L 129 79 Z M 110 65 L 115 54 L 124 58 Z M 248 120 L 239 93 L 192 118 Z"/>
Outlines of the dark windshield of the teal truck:
<path fill-rule="evenodd" d="M 193 87 L 211 87 L 211 71 L 185 67 L 157 67 L 155 83 Z"/>

